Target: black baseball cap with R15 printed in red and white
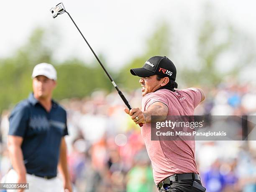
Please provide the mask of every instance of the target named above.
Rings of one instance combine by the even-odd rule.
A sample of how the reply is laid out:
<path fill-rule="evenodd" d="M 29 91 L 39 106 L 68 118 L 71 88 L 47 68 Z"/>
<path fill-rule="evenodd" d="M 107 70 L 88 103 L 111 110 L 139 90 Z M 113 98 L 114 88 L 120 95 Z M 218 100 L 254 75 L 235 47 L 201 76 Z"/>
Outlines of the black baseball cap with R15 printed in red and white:
<path fill-rule="evenodd" d="M 158 74 L 162 77 L 169 77 L 175 81 L 176 67 L 166 56 L 153 56 L 148 59 L 143 67 L 130 70 L 131 74 L 138 77 L 149 77 Z"/>

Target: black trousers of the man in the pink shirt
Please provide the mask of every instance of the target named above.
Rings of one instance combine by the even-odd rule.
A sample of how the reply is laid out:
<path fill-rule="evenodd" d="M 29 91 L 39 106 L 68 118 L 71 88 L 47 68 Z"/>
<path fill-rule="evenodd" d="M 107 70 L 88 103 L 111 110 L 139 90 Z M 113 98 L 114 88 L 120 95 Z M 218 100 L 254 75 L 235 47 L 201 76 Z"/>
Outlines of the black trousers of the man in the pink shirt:
<path fill-rule="evenodd" d="M 181 180 L 177 182 L 171 182 L 171 184 L 164 184 L 160 192 L 205 192 L 205 190 L 197 189 L 196 187 L 193 187 L 193 180 Z M 195 180 L 197 184 L 201 184 L 199 180 Z M 194 184 L 195 185 L 195 184 Z"/>

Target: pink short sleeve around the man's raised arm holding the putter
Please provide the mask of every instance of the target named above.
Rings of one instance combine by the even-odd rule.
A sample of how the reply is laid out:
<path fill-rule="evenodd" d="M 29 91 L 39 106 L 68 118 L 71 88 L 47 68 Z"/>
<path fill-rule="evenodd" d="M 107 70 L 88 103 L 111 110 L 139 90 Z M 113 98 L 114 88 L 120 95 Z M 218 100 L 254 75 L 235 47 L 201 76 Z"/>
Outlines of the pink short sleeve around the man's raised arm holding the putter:
<path fill-rule="evenodd" d="M 158 93 L 158 92 L 153 92 L 153 93 L 150 93 L 150 94 L 146 95 L 145 97 L 143 97 L 143 99 L 142 99 L 142 104 L 143 104 L 142 109 L 144 111 L 146 111 L 154 102 L 162 102 L 167 107 L 169 106 L 168 105 L 169 102 L 166 99 L 166 97 L 164 97 L 164 94 Z"/>

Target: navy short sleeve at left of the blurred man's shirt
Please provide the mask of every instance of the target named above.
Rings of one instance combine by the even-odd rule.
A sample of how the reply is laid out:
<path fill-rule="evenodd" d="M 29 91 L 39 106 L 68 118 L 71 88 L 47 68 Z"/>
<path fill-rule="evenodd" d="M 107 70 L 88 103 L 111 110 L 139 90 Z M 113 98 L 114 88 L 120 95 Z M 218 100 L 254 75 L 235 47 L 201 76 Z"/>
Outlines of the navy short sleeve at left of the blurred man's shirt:
<path fill-rule="evenodd" d="M 29 109 L 23 103 L 19 103 L 13 109 L 9 117 L 8 135 L 24 137 L 28 127 Z"/>

